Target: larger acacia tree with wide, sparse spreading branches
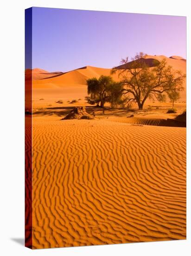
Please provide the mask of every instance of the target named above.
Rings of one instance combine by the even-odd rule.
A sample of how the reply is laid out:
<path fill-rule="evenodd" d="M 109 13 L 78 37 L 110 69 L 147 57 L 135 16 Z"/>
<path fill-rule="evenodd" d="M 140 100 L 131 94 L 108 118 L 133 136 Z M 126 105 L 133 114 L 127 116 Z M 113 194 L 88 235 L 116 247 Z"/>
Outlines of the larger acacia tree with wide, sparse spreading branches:
<path fill-rule="evenodd" d="M 179 70 L 173 70 L 165 59 L 153 61 L 154 67 L 151 67 L 145 56 L 143 53 L 137 54 L 131 62 L 127 57 L 121 61 L 121 66 L 112 69 L 112 73 L 117 71 L 121 78 L 122 94 L 128 95 L 127 104 L 136 102 L 139 109 L 143 109 L 148 98 L 160 100 L 165 92 L 182 91 L 185 79 L 185 75 Z"/>

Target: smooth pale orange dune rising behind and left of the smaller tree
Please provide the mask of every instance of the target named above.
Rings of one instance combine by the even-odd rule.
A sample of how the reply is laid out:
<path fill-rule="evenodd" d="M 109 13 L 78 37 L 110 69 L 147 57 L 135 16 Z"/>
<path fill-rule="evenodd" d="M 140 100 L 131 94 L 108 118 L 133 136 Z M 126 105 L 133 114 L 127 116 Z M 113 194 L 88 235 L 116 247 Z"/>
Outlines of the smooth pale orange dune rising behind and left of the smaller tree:
<path fill-rule="evenodd" d="M 60 98 L 84 99 L 87 96 L 87 79 L 99 78 L 102 74 L 110 75 L 110 71 L 111 69 L 108 68 L 87 66 L 55 77 L 32 81 L 33 99 L 45 98 L 48 101 L 56 101 Z M 117 74 L 113 76 L 118 80 Z"/>

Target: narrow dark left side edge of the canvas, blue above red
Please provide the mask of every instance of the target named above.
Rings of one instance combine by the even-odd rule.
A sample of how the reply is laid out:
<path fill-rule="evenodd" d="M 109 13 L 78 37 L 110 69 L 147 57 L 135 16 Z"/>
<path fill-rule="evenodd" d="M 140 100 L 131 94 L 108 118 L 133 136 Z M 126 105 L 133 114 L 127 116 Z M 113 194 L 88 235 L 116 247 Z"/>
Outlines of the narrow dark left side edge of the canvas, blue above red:
<path fill-rule="evenodd" d="M 25 246 L 32 249 L 32 8 L 25 10 Z"/>

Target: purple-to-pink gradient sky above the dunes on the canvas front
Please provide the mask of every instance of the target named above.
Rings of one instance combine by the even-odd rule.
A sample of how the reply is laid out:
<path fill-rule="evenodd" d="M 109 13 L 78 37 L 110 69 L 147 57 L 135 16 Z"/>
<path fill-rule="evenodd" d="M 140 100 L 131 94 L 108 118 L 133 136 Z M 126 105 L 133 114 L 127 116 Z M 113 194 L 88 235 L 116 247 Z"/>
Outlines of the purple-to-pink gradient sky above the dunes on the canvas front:
<path fill-rule="evenodd" d="M 186 18 L 32 8 L 32 68 L 111 68 L 137 52 L 186 58 Z"/>

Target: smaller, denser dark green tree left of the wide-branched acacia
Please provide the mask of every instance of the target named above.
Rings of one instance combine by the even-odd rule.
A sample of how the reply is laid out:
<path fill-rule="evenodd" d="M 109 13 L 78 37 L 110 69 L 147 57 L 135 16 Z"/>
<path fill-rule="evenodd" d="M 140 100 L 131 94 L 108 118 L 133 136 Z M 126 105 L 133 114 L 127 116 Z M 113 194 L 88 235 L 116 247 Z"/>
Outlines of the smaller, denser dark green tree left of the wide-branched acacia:
<path fill-rule="evenodd" d="M 87 80 L 88 95 L 85 97 L 89 104 L 97 103 L 97 106 L 104 108 L 105 102 L 110 102 L 112 107 L 119 100 L 122 94 L 122 85 L 113 81 L 111 76 L 101 75 L 99 79 Z"/>

